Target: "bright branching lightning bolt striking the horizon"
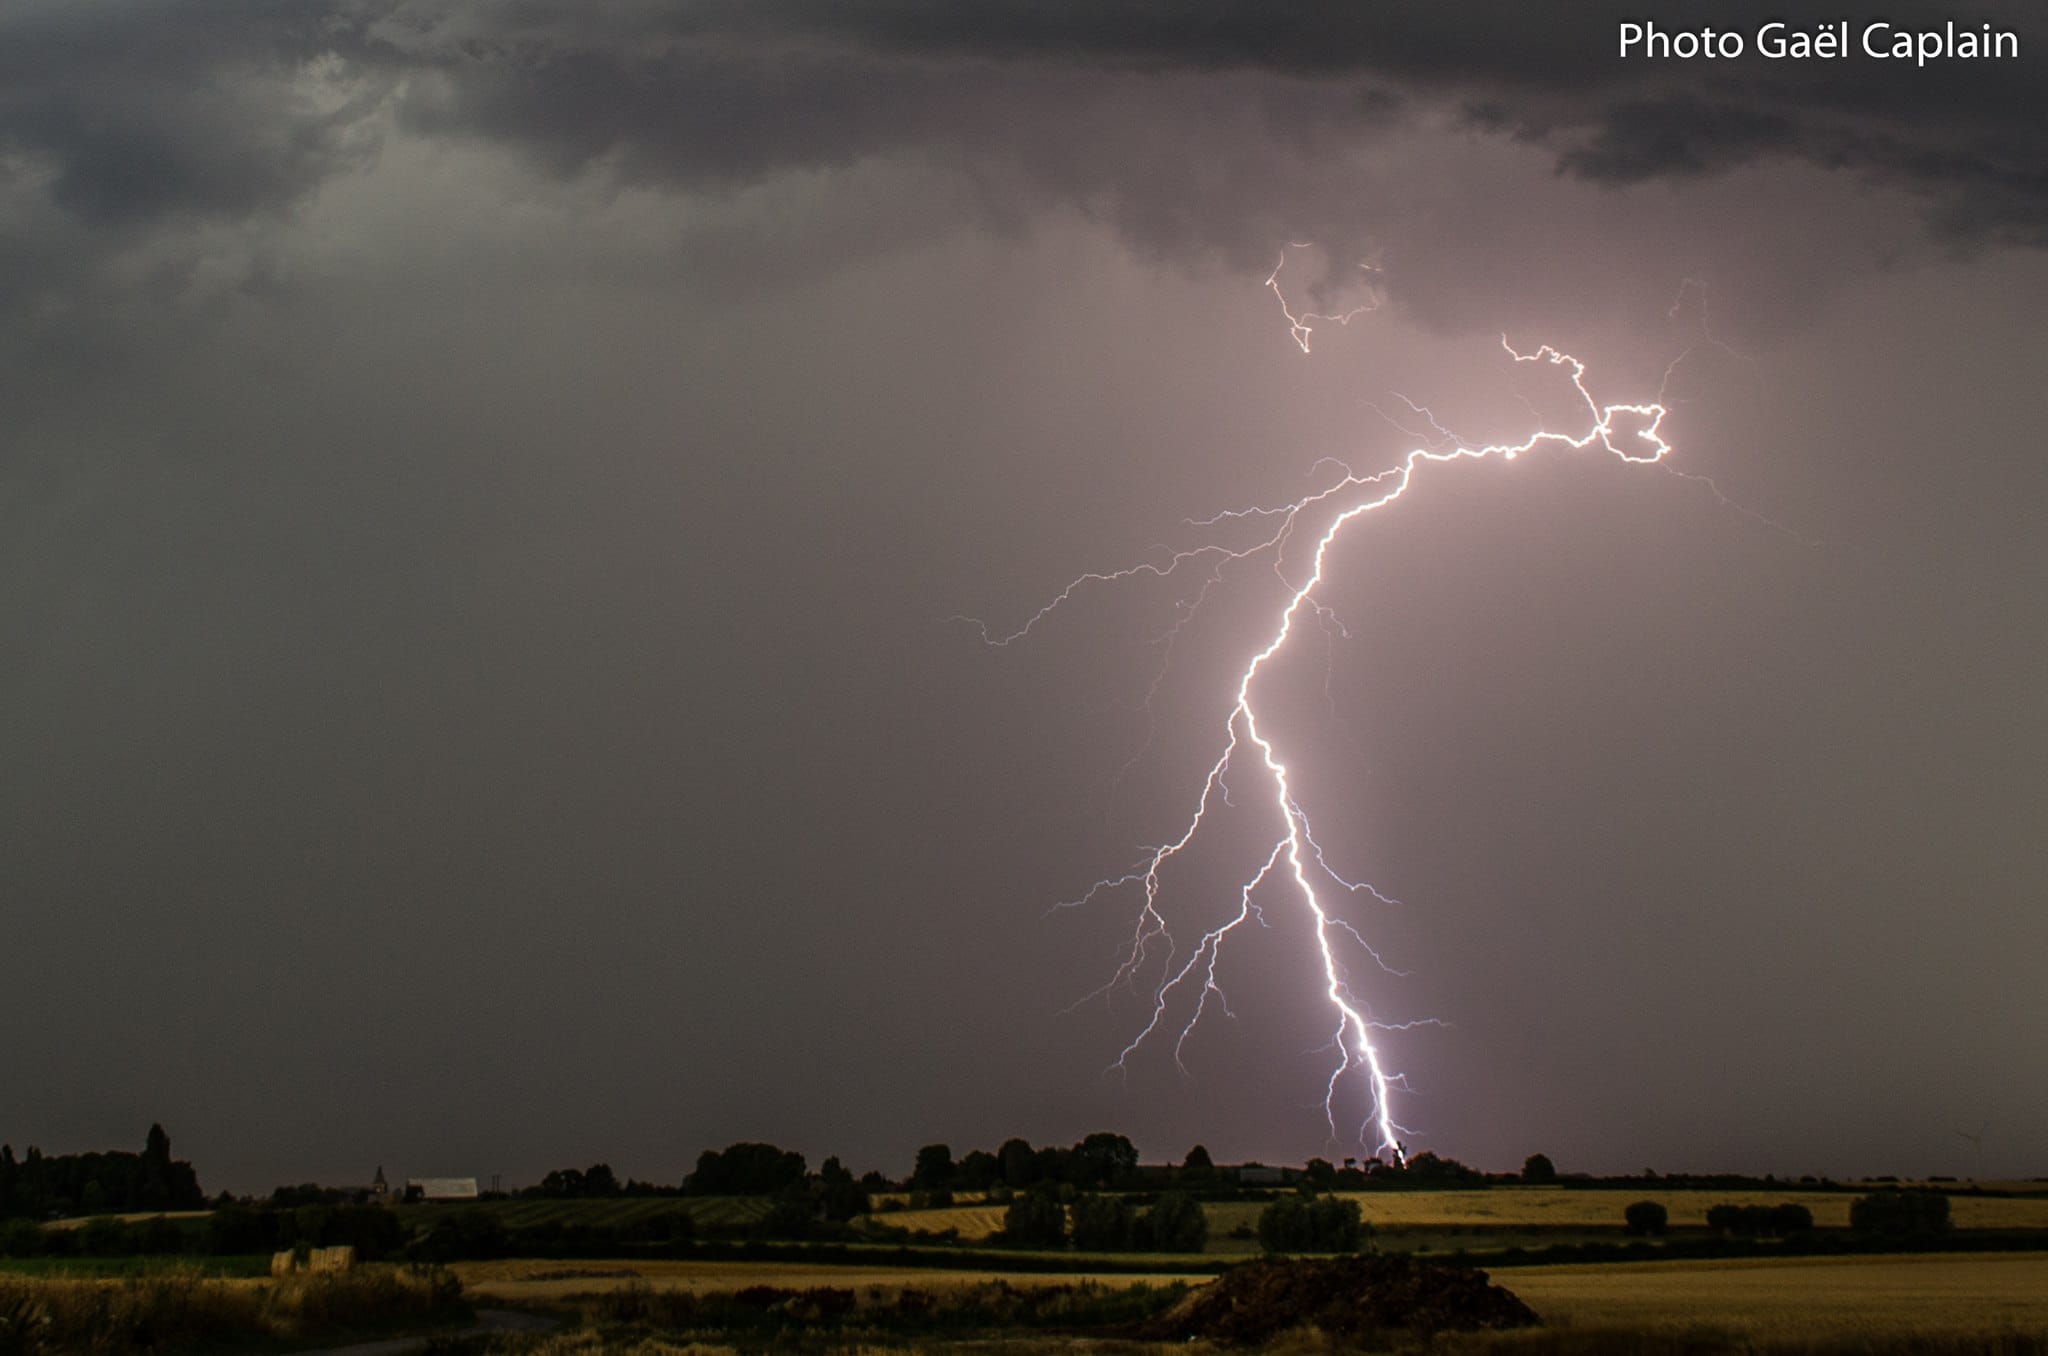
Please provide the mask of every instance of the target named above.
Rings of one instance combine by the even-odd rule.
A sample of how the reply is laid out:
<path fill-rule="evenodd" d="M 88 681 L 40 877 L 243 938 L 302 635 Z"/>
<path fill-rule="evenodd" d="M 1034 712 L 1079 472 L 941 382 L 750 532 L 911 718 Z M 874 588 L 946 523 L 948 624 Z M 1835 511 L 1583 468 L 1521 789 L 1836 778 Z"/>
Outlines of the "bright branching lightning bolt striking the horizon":
<path fill-rule="evenodd" d="M 1286 254 L 1282 252 L 1282 266 L 1284 262 Z M 1280 299 L 1288 332 L 1303 352 L 1309 352 L 1309 336 L 1313 334 L 1311 322 L 1321 320 L 1348 324 L 1358 313 L 1372 309 L 1372 303 L 1368 303 L 1341 315 L 1319 315 L 1313 311 L 1296 313 L 1280 293 L 1278 266 L 1266 279 L 1266 287 L 1270 287 Z M 1585 363 L 1569 352 L 1550 348 L 1548 344 L 1532 352 L 1520 352 L 1507 342 L 1505 336 L 1501 338 L 1501 348 L 1516 365 L 1532 365 L 1561 373 L 1583 406 L 1585 426 L 1577 432 L 1538 428 L 1538 432 L 1532 432 L 1520 442 L 1473 444 L 1444 428 L 1425 406 L 1417 406 L 1407 397 L 1397 397 L 1407 406 L 1407 412 L 1413 418 L 1423 420 L 1430 430 L 1427 436 L 1415 430 L 1405 430 L 1421 444 L 1409 451 L 1397 465 L 1370 475 L 1360 475 L 1341 463 L 1317 463 L 1319 467 L 1335 465 L 1341 475 L 1323 490 L 1315 490 L 1286 504 L 1270 508 L 1229 508 L 1212 514 L 1210 518 L 1188 522 L 1188 526 L 1198 531 L 1235 526 L 1243 522 L 1264 524 L 1264 535 L 1260 535 L 1251 545 L 1231 547 L 1208 541 L 1184 549 L 1159 547 L 1159 553 L 1153 559 L 1143 559 L 1120 569 L 1075 576 L 1044 606 L 1006 633 L 995 631 L 977 619 L 954 619 L 979 627 L 983 643 L 991 647 L 1008 647 L 1038 629 L 1049 617 L 1083 590 L 1141 576 L 1161 580 L 1182 574 L 1196 576 L 1200 584 L 1194 590 L 1184 592 L 1182 600 L 1176 604 L 1174 627 L 1165 635 L 1167 660 L 1163 664 L 1169 664 L 1171 639 L 1178 637 L 1180 629 L 1200 610 L 1202 602 L 1217 586 L 1225 565 L 1270 557 L 1272 569 L 1284 586 L 1284 602 L 1274 617 L 1266 643 L 1249 653 L 1237 674 L 1237 686 L 1231 694 L 1229 713 L 1225 715 L 1219 731 L 1221 752 L 1214 762 L 1210 762 L 1208 772 L 1202 778 L 1202 787 L 1194 797 L 1194 807 L 1180 832 L 1169 842 L 1143 850 L 1143 856 L 1122 875 L 1104 877 L 1090 885 L 1081 895 L 1065 899 L 1055 907 L 1081 907 L 1104 895 L 1122 891 L 1135 891 L 1139 895 L 1130 944 L 1120 948 L 1122 961 L 1118 963 L 1116 973 L 1110 975 L 1108 983 L 1100 989 L 1083 995 L 1081 1002 L 1108 995 L 1118 985 L 1139 987 L 1139 975 L 1149 973 L 1153 959 L 1159 957 L 1159 981 L 1151 989 L 1149 1018 L 1122 1047 L 1122 1051 L 1118 1051 L 1110 1067 L 1122 1071 L 1126 1061 L 1137 1055 L 1141 1047 L 1153 1039 L 1165 1039 L 1165 1032 L 1174 1028 L 1174 1020 L 1167 1014 L 1176 1000 L 1182 1000 L 1186 993 L 1186 1002 L 1192 1002 L 1192 1012 L 1171 1036 L 1174 1061 L 1186 1069 L 1186 1065 L 1182 1065 L 1182 1051 L 1208 1012 L 1210 1002 L 1229 1014 L 1229 1000 L 1217 983 L 1217 963 L 1229 936 L 1247 922 L 1257 926 L 1266 924 L 1266 916 L 1260 905 L 1264 895 L 1274 891 L 1290 895 L 1311 924 L 1309 932 L 1315 940 L 1311 957 L 1313 973 L 1317 977 L 1315 985 L 1327 1002 L 1333 1022 L 1329 1043 L 1333 1063 L 1323 1086 L 1323 1114 L 1329 1122 L 1331 1141 L 1339 1135 L 1339 1094 L 1348 1086 L 1348 1079 L 1362 1079 L 1370 1108 L 1366 1120 L 1358 1127 L 1358 1141 L 1366 1145 L 1370 1153 L 1389 1155 L 1395 1161 L 1401 1161 L 1405 1155 L 1401 1135 L 1407 1131 L 1395 1120 L 1393 1094 L 1405 1084 L 1401 1073 L 1389 1069 L 1382 1051 L 1374 1043 L 1374 1034 L 1384 1030 L 1407 1030 L 1409 1026 L 1419 1026 L 1427 1020 L 1391 1024 L 1372 1016 L 1370 1004 L 1366 1004 L 1352 987 L 1352 965 L 1348 965 L 1346 957 L 1364 957 L 1372 967 L 1391 975 L 1397 975 L 1399 971 L 1386 967 L 1366 936 L 1333 909 L 1331 899 L 1335 899 L 1335 893 L 1341 891 L 1348 897 L 1366 895 L 1380 903 L 1395 901 L 1364 881 L 1350 881 L 1337 875 L 1337 871 L 1333 871 L 1325 860 L 1323 848 L 1311 830 L 1309 815 L 1294 795 L 1294 778 L 1288 762 L 1262 725 L 1257 703 L 1260 678 L 1268 664 L 1282 649 L 1286 649 L 1305 617 L 1315 617 L 1325 625 L 1331 621 L 1327 606 L 1317 600 L 1317 590 L 1323 586 L 1331 547 L 1337 539 L 1343 537 L 1346 531 L 1350 531 L 1360 518 L 1401 500 L 1401 496 L 1409 492 L 1409 485 L 1415 481 L 1415 473 L 1421 467 L 1452 461 L 1485 461 L 1489 457 L 1513 461 L 1516 457 L 1536 449 L 1597 449 L 1630 465 L 1655 465 L 1671 453 L 1671 444 L 1661 436 L 1665 418 L 1665 406 L 1661 399 L 1651 404 L 1604 406 L 1585 385 Z M 1391 418 L 1391 422 L 1401 428 L 1397 420 Z M 1540 418 L 1538 424 L 1542 424 Z M 1327 520 L 1323 520 L 1321 514 L 1329 514 Z M 1315 522 L 1321 522 L 1321 526 L 1317 528 Z M 1284 559 L 1286 547 L 1294 537 L 1311 533 L 1315 535 L 1315 549 L 1309 555 L 1307 571 L 1298 580 L 1290 580 Z M 1163 666 L 1153 678 L 1149 692 L 1159 690 Z M 1253 858 L 1257 864 L 1247 866 L 1247 875 L 1239 881 L 1237 912 L 1217 928 L 1202 932 L 1194 950 L 1188 952 L 1186 961 L 1176 967 L 1174 934 L 1167 926 L 1165 912 L 1161 909 L 1163 875 L 1174 864 L 1174 858 L 1186 852 L 1190 844 L 1202 836 L 1202 830 L 1208 828 L 1210 819 L 1217 817 L 1217 803 L 1221 801 L 1225 807 L 1233 805 L 1227 778 L 1239 768 L 1241 762 L 1251 764 L 1253 770 L 1264 774 L 1266 801 L 1272 815 L 1270 846 Z"/>

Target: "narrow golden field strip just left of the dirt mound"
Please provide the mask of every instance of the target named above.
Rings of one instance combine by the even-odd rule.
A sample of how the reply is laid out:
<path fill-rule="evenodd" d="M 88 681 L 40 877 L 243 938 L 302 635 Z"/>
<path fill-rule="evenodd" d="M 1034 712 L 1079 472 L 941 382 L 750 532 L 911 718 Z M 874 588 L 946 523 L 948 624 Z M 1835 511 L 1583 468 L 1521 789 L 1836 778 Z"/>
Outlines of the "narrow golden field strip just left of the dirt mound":
<path fill-rule="evenodd" d="M 1012 1286 L 1047 1286 L 1092 1282 L 1100 1286 L 1171 1284 L 1186 1280 L 1202 1284 L 1206 1274 L 1090 1274 L 1090 1272 L 981 1272 L 973 1268 L 901 1266 L 829 1266 L 815 1262 L 457 1262 L 451 1270 L 463 1280 L 465 1293 L 504 1303 L 549 1303 L 571 1295 L 596 1295 L 645 1284 L 655 1290 L 690 1290 L 694 1295 L 741 1290 L 745 1286 L 782 1286 L 809 1290 L 834 1286 L 840 1290 L 938 1290 L 946 1286 L 985 1284 L 1001 1280 Z"/>

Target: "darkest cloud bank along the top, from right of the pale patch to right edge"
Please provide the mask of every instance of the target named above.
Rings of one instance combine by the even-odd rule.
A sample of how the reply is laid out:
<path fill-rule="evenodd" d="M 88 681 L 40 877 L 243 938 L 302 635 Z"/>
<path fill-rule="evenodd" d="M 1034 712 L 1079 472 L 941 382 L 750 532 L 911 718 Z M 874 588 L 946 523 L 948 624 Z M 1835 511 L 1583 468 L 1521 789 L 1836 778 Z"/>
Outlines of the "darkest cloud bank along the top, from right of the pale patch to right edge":
<path fill-rule="evenodd" d="M 1833 16 L 1808 8 L 1790 20 Z M 643 6 L 612 31 L 549 4 L 461 14 L 412 10 L 395 43 L 442 76 L 414 119 L 524 143 L 561 170 L 614 158 L 678 182 L 743 180 L 903 147 L 1022 158 L 1032 133 L 1079 137 L 1079 154 L 1085 129 L 1061 104 L 1077 70 L 1122 76 L 1135 98 L 1147 78 L 1255 72 L 1346 86 L 1348 135 L 1397 102 L 1483 111 L 1475 127 L 1604 182 L 1782 158 L 1939 195 L 1958 234 L 2038 242 L 2048 221 L 2048 137 L 2019 63 L 1622 61 L 1616 20 L 1632 10 L 709 4 Z M 1712 18 L 1753 35 L 1788 14 Z M 2025 16 L 1993 4 L 1954 18 Z"/>

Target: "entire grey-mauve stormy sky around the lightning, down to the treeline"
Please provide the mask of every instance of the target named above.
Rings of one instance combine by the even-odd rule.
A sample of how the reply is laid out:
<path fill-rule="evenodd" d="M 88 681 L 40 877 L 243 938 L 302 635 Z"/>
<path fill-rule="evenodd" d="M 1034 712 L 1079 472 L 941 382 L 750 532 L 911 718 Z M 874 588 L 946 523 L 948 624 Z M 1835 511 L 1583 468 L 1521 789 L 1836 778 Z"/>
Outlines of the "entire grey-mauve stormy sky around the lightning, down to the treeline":
<path fill-rule="evenodd" d="M 1149 711 L 1196 576 L 946 619 L 1397 465 L 1401 397 L 1583 432 L 1505 336 L 1663 387 L 1667 463 L 1423 467 L 1260 684 L 1401 901 L 1335 899 L 1401 971 L 1356 993 L 1442 1022 L 1382 1039 L 1407 1143 L 2048 1172 L 2048 27 L 1950 12 L 2023 55 L 1622 61 L 1507 0 L 8 4 L 0 1139 L 162 1120 L 209 1190 L 1360 1153 L 1294 895 L 1186 1073 L 1104 1075 L 1139 899 L 1049 912 L 1186 825 L 1270 557 Z M 1282 254 L 1378 309 L 1300 352 Z M 1182 957 L 1270 850 L 1233 791 Z"/>

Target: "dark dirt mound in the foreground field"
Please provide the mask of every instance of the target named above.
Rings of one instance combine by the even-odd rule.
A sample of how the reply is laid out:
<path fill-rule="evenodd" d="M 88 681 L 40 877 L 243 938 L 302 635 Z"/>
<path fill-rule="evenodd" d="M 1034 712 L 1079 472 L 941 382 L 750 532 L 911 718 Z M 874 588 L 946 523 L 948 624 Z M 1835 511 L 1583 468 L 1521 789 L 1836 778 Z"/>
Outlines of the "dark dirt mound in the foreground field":
<path fill-rule="evenodd" d="M 1528 1327 L 1536 1313 L 1473 1266 L 1296 1258 L 1231 1268 L 1145 1323 L 1145 1336 L 1266 1342 L 1303 1323 L 1331 1338 L 1370 1338 L 1386 1329 Z"/>

